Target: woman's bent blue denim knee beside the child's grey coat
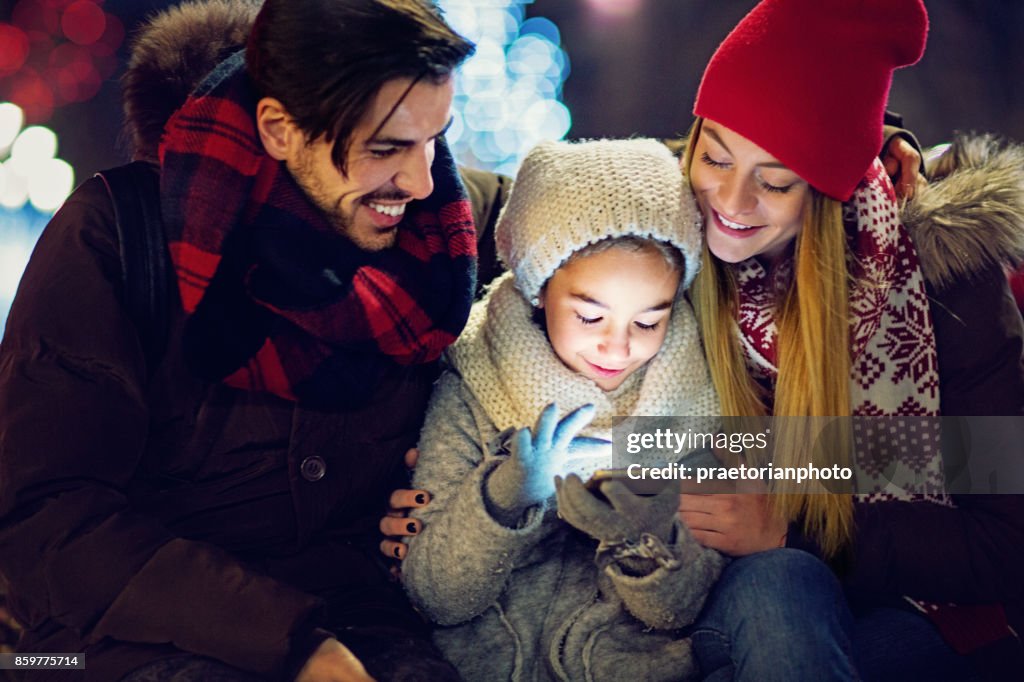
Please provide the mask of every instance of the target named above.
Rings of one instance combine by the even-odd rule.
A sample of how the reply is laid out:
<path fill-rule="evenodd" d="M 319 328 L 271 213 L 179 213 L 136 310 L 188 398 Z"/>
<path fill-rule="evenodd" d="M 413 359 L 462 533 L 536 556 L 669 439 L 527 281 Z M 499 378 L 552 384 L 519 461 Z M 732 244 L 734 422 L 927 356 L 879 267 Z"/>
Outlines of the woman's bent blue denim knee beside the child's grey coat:
<path fill-rule="evenodd" d="M 705 679 L 856 680 L 853 616 L 839 581 L 795 549 L 734 559 L 691 630 Z"/>

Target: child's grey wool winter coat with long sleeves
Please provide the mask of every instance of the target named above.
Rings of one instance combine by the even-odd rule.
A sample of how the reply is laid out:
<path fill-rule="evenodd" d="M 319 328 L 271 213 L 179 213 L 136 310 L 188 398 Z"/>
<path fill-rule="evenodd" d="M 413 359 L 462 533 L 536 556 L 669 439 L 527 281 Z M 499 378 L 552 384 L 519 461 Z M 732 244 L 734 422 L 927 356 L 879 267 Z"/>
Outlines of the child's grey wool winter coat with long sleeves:
<path fill-rule="evenodd" d="M 596 541 L 558 518 L 554 500 L 506 527 L 487 511 L 484 481 L 505 456 L 482 407 L 454 372 L 431 399 L 402 579 L 439 627 L 434 639 L 467 680 L 680 680 L 694 677 L 692 623 L 724 557 L 677 521 L 682 567 L 644 577 L 597 559 Z M 495 444 L 489 444 L 495 443 Z"/>

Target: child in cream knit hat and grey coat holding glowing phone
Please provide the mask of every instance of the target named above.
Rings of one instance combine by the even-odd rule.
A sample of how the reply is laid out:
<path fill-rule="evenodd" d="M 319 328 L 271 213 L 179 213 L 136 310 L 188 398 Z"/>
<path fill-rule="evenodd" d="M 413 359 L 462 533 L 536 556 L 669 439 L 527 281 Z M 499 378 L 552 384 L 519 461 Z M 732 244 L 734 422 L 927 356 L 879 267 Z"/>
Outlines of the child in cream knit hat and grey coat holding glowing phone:
<path fill-rule="evenodd" d="M 692 677 L 679 630 L 724 559 L 680 524 L 677 491 L 555 486 L 608 466 L 570 441 L 608 438 L 615 415 L 718 412 L 680 295 L 699 218 L 678 164 L 654 140 L 542 144 L 497 243 L 511 271 L 474 306 L 421 434 L 415 486 L 433 499 L 406 587 L 469 680 Z"/>

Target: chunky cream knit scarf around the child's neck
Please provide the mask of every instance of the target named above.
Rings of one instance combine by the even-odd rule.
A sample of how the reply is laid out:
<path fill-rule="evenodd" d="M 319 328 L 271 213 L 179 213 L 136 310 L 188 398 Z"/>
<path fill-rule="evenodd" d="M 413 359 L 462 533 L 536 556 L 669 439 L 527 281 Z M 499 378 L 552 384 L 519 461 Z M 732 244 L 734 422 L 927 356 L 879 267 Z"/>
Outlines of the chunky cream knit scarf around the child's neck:
<path fill-rule="evenodd" d="M 605 439 L 611 438 L 616 416 L 709 417 L 701 422 L 709 427 L 716 422 L 718 396 L 693 310 L 682 297 L 660 351 L 609 393 L 565 367 L 531 315 L 532 307 L 506 273 L 473 306 L 465 331 L 449 349 L 453 367 L 499 431 L 532 427 L 550 402 L 563 415 L 593 403 L 597 412 L 583 435 Z"/>

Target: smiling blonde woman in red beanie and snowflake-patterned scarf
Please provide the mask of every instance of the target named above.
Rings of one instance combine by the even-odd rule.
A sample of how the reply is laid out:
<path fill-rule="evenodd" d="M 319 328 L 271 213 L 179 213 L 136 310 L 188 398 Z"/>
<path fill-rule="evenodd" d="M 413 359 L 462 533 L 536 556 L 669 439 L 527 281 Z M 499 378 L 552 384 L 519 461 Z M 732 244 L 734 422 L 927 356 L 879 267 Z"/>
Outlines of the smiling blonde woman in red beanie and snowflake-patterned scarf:
<path fill-rule="evenodd" d="M 962 227 L 950 237 L 927 208 L 900 221 L 874 160 L 892 72 L 926 33 L 920 0 L 765 0 L 709 63 L 684 169 L 706 218 L 693 302 L 723 414 L 1024 413 L 1021 322 L 998 262 L 1020 256 L 1019 223 L 1000 222 L 1020 219 L 1020 166 L 987 166 L 1007 165 L 1010 179 L 989 180 L 1009 203 L 983 179 L 971 197 L 942 194 L 963 182 L 923 190 L 919 207 L 945 204 Z M 991 203 L 957 215 L 975 195 L 1002 202 L 999 219 Z M 937 450 L 910 455 L 941 474 Z M 684 495 L 680 513 L 699 542 L 743 557 L 697 624 L 705 675 L 848 679 L 851 657 L 865 679 L 1014 670 L 1018 496 Z M 852 622 L 833 579 L 780 546 L 843 566 Z"/>

